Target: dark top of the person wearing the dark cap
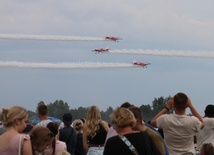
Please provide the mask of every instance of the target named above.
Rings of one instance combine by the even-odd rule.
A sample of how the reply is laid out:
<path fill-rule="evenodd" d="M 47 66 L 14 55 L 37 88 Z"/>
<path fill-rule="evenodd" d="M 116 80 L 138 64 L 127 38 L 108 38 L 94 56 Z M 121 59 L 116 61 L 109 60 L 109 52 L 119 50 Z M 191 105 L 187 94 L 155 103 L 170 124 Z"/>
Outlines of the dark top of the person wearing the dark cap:
<path fill-rule="evenodd" d="M 67 151 L 74 154 L 77 141 L 76 131 L 71 127 L 64 127 L 59 130 L 59 140 L 66 143 Z"/>

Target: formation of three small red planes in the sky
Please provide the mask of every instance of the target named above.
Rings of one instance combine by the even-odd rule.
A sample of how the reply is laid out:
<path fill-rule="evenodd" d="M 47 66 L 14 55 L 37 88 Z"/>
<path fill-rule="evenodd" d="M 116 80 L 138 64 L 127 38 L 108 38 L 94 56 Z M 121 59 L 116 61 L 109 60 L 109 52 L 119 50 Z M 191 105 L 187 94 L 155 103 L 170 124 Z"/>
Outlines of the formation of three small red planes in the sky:
<path fill-rule="evenodd" d="M 118 42 L 118 40 L 122 40 L 122 38 L 115 37 L 115 36 L 106 36 L 105 40 Z M 110 50 L 109 48 L 95 48 L 92 51 L 95 51 L 95 53 L 99 54 L 99 53 L 107 53 L 107 52 L 109 52 L 109 50 Z M 151 65 L 151 63 L 149 63 L 149 62 L 140 62 L 140 61 L 135 61 L 135 60 L 132 62 L 132 64 L 135 66 L 143 67 L 143 68 L 147 68 L 148 65 Z"/>

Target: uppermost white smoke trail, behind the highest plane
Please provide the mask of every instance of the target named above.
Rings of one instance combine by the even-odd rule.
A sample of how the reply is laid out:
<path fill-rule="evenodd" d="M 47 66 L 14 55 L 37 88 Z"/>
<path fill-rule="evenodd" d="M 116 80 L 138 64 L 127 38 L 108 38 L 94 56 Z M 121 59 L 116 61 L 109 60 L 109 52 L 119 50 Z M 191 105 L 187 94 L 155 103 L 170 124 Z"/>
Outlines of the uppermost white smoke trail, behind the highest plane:
<path fill-rule="evenodd" d="M 2 40 L 105 41 L 104 38 L 54 35 L 0 34 Z"/>

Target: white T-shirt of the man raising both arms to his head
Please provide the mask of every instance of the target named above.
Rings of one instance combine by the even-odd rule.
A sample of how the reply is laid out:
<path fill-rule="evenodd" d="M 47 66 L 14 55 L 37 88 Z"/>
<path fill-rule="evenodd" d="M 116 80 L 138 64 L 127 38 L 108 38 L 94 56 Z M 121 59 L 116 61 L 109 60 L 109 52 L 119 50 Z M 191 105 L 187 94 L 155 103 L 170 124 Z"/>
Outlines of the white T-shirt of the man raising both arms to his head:
<path fill-rule="evenodd" d="M 157 127 L 164 132 L 164 141 L 170 155 L 195 154 L 193 137 L 201 128 L 195 116 L 165 114 L 157 118 Z"/>

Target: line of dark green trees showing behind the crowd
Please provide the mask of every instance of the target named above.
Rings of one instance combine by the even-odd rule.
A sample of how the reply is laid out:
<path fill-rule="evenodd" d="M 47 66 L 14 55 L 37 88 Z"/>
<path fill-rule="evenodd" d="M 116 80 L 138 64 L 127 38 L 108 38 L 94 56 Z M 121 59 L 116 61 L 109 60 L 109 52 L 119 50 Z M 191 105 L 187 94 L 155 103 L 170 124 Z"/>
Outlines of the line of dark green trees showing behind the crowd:
<path fill-rule="evenodd" d="M 169 97 L 164 98 L 163 96 L 159 98 L 154 98 L 152 104 L 147 105 L 141 105 L 139 108 L 141 109 L 143 113 L 143 119 L 148 122 L 150 121 L 160 110 L 162 110 L 166 102 L 169 100 Z M 38 103 L 38 106 L 40 104 L 45 104 L 43 101 L 40 101 Z M 85 118 L 87 114 L 87 107 L 78 107 L 76 109 L 71 109 L 67 102 L 64 102 L 63 100 L 56 100 L 55 102 L 51 102 L 46 104 L 48 106 L 48 115 L 52 117 L 56 117 L 61 119 L 62 115 L 65 112 L 70 112 L 73 115 L 73 119 L 79 119 L 79 118 Z M 111 123 L 111 120 L 109 118 L 109 115 L 113 112 L 113 108 L 109 106 L 105 111 L 101 110 L 101 116 L 102 119 Z M 37 111 L 32 112 L 29 111 L 29 117 L 36 116 Z"/>

